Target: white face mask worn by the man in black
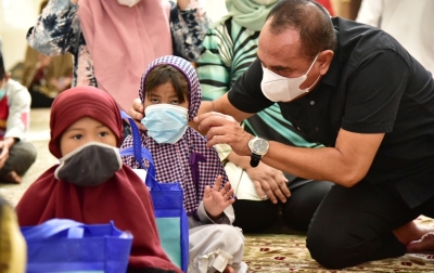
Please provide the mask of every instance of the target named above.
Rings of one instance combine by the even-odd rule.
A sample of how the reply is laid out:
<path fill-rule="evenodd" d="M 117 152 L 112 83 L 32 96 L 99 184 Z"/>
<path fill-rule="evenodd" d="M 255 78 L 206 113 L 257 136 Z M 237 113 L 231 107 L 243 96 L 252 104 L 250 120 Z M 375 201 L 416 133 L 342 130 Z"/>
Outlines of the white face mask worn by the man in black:
<path fill-rule="evenodd" d="M 307 79 L 307 74 L 309 74 L 310 68 L 312 68 L 315 62 L 317 61 L 318 54 L 307 73 L 298 78 L 286 78 L 277 75 L 276 73 L 263 66 L 264 76 L 263 81 L 260 82 L 260 88 L 264 95 L 272 102 L 289 102 L 303 93 L 309 92 L 309 89 L 317 83 L 321 75 L 318 76 L 317 80 L 310 87 L 306 89 L 299 89 L 299 86 L 302 86 L 302 83 Z"/>

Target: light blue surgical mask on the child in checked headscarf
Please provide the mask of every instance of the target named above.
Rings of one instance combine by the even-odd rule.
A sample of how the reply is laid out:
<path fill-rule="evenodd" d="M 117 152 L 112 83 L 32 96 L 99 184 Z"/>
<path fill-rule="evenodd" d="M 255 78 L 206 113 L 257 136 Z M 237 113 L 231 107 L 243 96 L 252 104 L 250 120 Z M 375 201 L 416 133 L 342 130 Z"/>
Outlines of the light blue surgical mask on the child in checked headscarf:
<path fill-rule="evenodd" d="M 157 143 L 178 142 L 188 127 L 189 109 L 171 104 L 150 105 L 144 110 L 142 125 Z"/>

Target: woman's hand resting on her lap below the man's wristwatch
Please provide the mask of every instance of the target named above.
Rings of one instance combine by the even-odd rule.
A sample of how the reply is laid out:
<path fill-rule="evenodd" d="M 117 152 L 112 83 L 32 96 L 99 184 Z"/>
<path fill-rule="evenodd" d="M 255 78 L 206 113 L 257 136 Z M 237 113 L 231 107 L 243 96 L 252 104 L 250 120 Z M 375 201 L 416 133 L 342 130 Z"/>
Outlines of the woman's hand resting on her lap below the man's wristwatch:
<path fill-rule="evenodd" d="M 256 193 L 266 199 L 268 196 L 273 204 L 285 203 L 291 192 L 286 186 L 288 179 L 283 172 L 264 162 L 259 162 L 256 168 L 245 168 L 248 177 L 255 184 Z"/>

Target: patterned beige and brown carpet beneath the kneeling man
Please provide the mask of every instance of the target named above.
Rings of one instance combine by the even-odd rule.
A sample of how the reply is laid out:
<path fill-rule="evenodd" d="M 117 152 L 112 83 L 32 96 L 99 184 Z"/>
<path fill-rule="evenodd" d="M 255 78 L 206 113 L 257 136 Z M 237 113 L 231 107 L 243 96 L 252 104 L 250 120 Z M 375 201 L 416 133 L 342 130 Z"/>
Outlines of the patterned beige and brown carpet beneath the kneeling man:
<path fill-rule="evenodd" d="M 433 226 L 420 217 L 418 223 Z M 433 252 L 434 253 L 434 252 Z M 306 236 L 288 234 L 245 235 L 244 261 L 248 272 L 434 272 L 434 255 L 407 253 L 395 259 L 366 262 L 343 270 L 328 270 L 310 258 Z"/>

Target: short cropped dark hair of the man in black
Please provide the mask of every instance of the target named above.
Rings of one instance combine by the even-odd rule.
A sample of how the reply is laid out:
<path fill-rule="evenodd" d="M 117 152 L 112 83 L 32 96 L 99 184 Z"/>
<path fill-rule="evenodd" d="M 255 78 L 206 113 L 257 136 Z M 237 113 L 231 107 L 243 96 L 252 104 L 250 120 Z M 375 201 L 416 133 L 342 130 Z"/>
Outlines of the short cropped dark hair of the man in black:
<path fill-rule="evenodd" d="M 334 50 L 336 38 L 330 13 L 312 0 L 281 0 L 270 11 L 270 31 L 279 35 L 288 28 L 299 31 L 302 54 L 314 58 L 318 52 Z"/>

